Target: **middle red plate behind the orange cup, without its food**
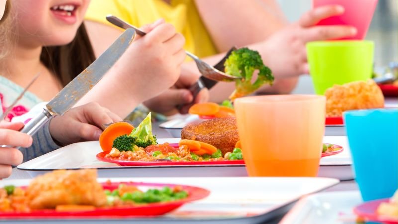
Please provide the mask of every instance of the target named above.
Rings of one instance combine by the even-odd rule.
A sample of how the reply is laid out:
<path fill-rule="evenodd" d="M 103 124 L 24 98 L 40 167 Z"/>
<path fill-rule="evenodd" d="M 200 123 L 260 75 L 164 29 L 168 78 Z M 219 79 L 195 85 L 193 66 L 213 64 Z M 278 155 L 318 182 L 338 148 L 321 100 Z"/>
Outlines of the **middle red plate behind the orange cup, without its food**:
<path fill-rule="evenodd" d="M 330 144 L 329 144 L 330 145 Z M 322 153 L 321 157 L 331 156 L 338 154 L 343 151 L 343 147 L 339 145 L 333 145 L 335 149 L 332 152 Z M 171 143 L 170 146 L 178 147 L 177 143 Z M 103 162 L 108 163 L 117 163 L 120 166 L 196 166 L 196 165 L 245 165 L 245 161 L 243 160 L 224 160 L 224 161 L 129 161 L 129 160 L 120 160 L 120 159 L 111 159 L 105 158 L 108 152 L 100 152 L 96 155 L 97 159 Z"/>

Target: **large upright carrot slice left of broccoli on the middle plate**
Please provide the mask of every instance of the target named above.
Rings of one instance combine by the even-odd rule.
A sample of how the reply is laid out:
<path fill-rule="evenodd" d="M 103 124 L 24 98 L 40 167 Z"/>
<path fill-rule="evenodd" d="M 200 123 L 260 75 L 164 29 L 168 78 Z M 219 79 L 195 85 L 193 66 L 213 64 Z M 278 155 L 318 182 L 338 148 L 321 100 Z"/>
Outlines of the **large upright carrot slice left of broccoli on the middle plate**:
<path fill-rule="evenodd" d="M 109 125 L 100 136 L 100 146 L 102 150 L 112 150 L 113 141 L 119 136 L 130 134 L 133 129 L 133 125 L 127 122 L 116 122 Z"/>

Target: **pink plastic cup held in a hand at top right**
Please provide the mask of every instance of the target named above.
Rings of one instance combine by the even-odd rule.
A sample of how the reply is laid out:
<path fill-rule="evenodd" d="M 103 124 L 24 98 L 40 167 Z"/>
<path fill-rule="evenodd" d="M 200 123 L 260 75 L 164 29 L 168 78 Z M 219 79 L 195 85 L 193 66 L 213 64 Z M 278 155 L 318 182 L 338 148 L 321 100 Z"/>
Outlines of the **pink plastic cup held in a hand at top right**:
<path fill-rule="evenodd" d="M 341 5 L 345 11 L 342 15 L 333 16 L 319 21 L 317 25 L 351 25 L 357 28 L 357 34 L 341 39 L 363 40 L 378 0 L 313 0 L 313 8 L 325 5 Z"/>

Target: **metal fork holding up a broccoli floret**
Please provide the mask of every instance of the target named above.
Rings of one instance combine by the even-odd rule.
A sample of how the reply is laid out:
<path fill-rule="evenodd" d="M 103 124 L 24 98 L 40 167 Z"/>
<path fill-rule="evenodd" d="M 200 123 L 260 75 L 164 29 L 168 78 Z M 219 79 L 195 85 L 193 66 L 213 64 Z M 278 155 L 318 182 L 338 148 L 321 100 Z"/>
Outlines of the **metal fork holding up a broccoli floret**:
<path fill-rule="evenodd" d="M 137 27 L 123 21 L 122 19 L 114 16 L 114 15 L 108 15 L 106 16 L 106 20 L 108 20 L 110 23 L 112 23 L 115 26 L 118 26 L 120 28 L 123 29 L 127 29 L 127 28 L 133 28 L 138 35 L 140 36 L 144 36 L 146 35 L 145 32 L 143 32 L 142 30 L 138 29 Z M 189 52 L 189 51 L 185 51 L 185 53 L 191 57 L 192 59 L 194 59 L 200 73 L 208 78 L 208 79 L 212 79 L 212 80 L 216 80 L 216 81 L 234 81 L 236 79 L 239 79 L 239 77 L 236 76 L 231 76 L 228 75 L 216 68 L 214 68 L 213 66 L 207 64 L 206 62 L 202 61 L 200 58 L 198 58 L 196 55 L 194 55 L 193 53 Z"/>

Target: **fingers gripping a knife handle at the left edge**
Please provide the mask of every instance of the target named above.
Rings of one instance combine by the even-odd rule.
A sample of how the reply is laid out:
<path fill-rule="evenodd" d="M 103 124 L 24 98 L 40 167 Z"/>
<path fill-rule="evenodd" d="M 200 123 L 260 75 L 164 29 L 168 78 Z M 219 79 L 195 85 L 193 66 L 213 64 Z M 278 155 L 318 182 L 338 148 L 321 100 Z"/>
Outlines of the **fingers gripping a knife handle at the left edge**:
<path fill-rule="evenodd" d="M 32 137 L 19 132 L 23 123 L 0 122 L 0 145 L 12 145 L 15 147 L 29 147 L 32 145 Z M 19 165 L 23 160 L 22 153 L 16 148 L 0 148 L 0 179 L 9 177 L 11 166 Z"/>

